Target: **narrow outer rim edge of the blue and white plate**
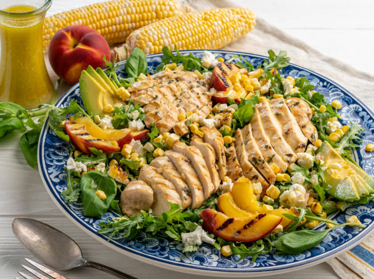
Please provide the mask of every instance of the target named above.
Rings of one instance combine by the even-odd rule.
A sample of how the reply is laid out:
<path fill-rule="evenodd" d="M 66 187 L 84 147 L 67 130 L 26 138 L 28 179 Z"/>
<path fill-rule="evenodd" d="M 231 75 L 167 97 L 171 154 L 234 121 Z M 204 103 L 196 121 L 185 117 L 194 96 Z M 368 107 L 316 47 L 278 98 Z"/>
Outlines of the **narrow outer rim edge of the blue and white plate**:
<path fill-rule="evenodd" d="M 184 54 L 184 53 L 189 53 L 189 52 L 202 52 L 204 50 L 206 50 L 206 49 L 182 50 L 182 51 L 180 51 L 180 53 Z M 213 53 L 215 52 L 215 53 L 219 53 L 219 54 L 248 55 L 248 56 L 251 56 L 251 57 L 254 57 L 254 58 L 261 58 L 261 59 L 266 59 L 267 58 L 266 56 L 259 55 L 259 54 L 239 52 L 239 51 L 231 51 L 231 50 L 207 50 L 207 51 L 211 51 Z M 160 55 L 162 55 L 162 53 L 150 54 L 150 55 L 147 55 L 147 57 L 152 58 L 152 57 L 158 57 Z M 126 61 L 121 61 L 121 62 L 118 62 L 116 64 L 121 65 L 121 64 L 124 64 L 125 62 Z M 307 72 L 313 73 L 314 75 L 322 77 L 323 79 L 329 81 L 331 84 L 336 86 L 338 89 L 342 90 L 344 92 L 344 94 L 348 94 L 350 97 L 352 97 L 356 102 L 358 102 L 366 110 L 366 112 L 372 118 L 374 118 L 374 113 L 368 108 L 368 106 L 366 106 L 360 99 L 358 99 L 354 94 L 352 94 L 350 91 L 345 89 L 343 86 L 337 84 L 336 82 L 332 81 L 331 79 L 329 79 L 329 78 L 327 78 L 327 77 L 325 77 L 325 76 L 323 76 L 319 73 L 316 73 L 313 70 L 307 69 L 303 66 L 299 66 L 299 65 L 294 64 L 294 63 L 289 63 L 289 64 L 292 65 L 292 66 L 295 66 L 297 68 L 306 70 Z M 56 102 L 56 106 L 61 105 L 61 103 L 66 99 L 66 97 L 69 94 L 71 94 L 71 92 L 76 90 L 78 88 L 78 86 L 79 86 L 79 83 L 77 83 L 77 84 L 73 85 L 71 88 L 69 88 L 60 97 L 60 99 Z M 68 219 L 70 219 L 74 224 L 76 224 L 81 230 L 85 231 L 89 236 L 91 236 L 94 239 L 98 240 L 99 242 L 103 243 L 107 247 L 110 247 L 111 249 L 119 252 L 120 254 L 129 256 L 129 257 L 134 258 L 136 260 L 139 260 L 141 262 L 151 264 L 151 265 L 155 265 L 155 266 L 167 269 L 167 270 L 174 270 L 174 271 L 176 271 L 175 268 L 177 267 L 178 272 L 183 272 L 183 273 L 187 273 L 187 274 L 195 274 L 195 275 L 205 275 L 205 276 L 225 277 L 225 276 L 229 275 L 231 277 L 243 277 L 243 276 L 254 277 L 254 276 L 275 275 L 275 274 L 281 274 L 281 273 L 286 273 L 286 272 L 290 272 L 290 271 L 296 271 L 296 270 L 304 269 L 304 268 L 307 268 L 307 267 L 311 267 L 311 266 L 317 265 L 321 262 L 324 262 L 324 261 L 326 261 L 326 260 L 328 260 L 332 257 L 335 257 L 338 254 L 343 253 L 343 252 L 351 249 L 352 247 L 357 245 L 358 242 L 364 240 L 366 237 L 369 236 L 370 232 L 374 228 L 374 222 L 373 222 L 365 230 L 360 232 L 358 235 L 356 235 L 355 237 L 353 237 L 349 241 L 345 242 L 344 244 L 342 244 L 340 246 L 337 246 L 336 248 L 328 251 L 327 253 L 318 255 L 314 258 L 310 258 L 310 259 L 307 259 L 307 260 L 301 260 L 301 261 L 297 261 L 297 262 L 293 262 L 293 263 L 287 263 L 287 264 L 279 266 L 279 267 L 272 267 L 273 268 L 272 270 L 262 270 L 262 271 L 259 270 L 259 269 L 266 269 L 268 267 L 257 268 L 257 269 L 253 269 L 252 271 L 250 270 L 250 268 L 243 268 L 243 269 L 236 269 L 234 271 L 227 271 L 230 268 L 214 268 L 214 270 L 209 270 L 209 267 L 205 267 L 205 266 L 193 266 L 193 267 L 189 266 L 188 267 L 188 266 L 185 266 L 186 264 L 183 264 L 181 262 L 173 262 L 173 261 L 170 261 L 170 260 L 156 258 L 152 255 L 147 255 L 147 254 L 144 254 L 143 252 L 140 252 L 140 251 L 137 251 L 137 250 L 129 251 L 129 250 L 123 249 L 123 248 L 119 247 L 116 243 L 114 243 L 112 241 L 108 242 L 104 237 L 98 235 L 96 232 L 93 232 L 90 228 L 88 228 L 88 226 L 86 226 L 86 224 L 83 224 L 82 222 L 80 222 L 78 219 L 76 219 L 74 216 L 72 216 L 69 213 L 69 211 L 67 211 L 62 206 L 62 202 L 63 202 L 62 199 L 54 198 L 55 195 L 49 189 L 49 186 L 47 184 L 47 179 L 48 179 L 47 172 L 46 171 L 43 172 L 44 169 L 42 169 L 42 165 L 41 165 L 41 163 L 42 163 L 41 158 L 43 158 L 42 154 L 44 154 L 44 143 L 45 143 L 46 132 L 49 129 L 48 119 L 49 119 L 49 117 L 46 119 L 46 121 L 45 121 L 45 123 L 42 127 L 42 130 L 41 130 L 42 137 L 39 138 L 39 142 L 38 142 L 37 160 L 38 160 L 39 174 L 42 178 L 42 182 L 43 182 L 49 196 L 51 197 L 53 202 L 57 205 L 59 210 L 62 211 L 63 214 L 68 217 Z M 61 202 L 61 204 L 60 204 L 60 202 Z M 66 203 L 64 205 L 68 206 Z M 288 265 L 291 265 L 291 266 L 288 267 Z M 222 271 L 220 269 L 222 269 Z"/>

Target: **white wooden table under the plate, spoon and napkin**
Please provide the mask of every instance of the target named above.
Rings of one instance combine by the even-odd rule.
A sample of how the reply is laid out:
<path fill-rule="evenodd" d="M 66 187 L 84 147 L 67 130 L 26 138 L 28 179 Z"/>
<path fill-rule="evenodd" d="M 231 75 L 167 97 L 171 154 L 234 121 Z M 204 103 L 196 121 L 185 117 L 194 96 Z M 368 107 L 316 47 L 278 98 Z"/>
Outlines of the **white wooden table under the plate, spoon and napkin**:
<path fill-rule="evenodd" d="M 11 2 L 11 1 L 10 1 Z M 95 0 L 53 0 L 48 14 L 83 6 Z M 253 8 L 271 24 L 298 37 L 322 53 L 333 56 L 357 69 L 374 74 L 374 20 L 371 0 L 237 0 L 238 5 Z M 53 82 L 56 75 L 50 70 Z M 59 96 L 68 88 L 63 85 Z M 19 149 L 19 134 L 0 139 L 0 279 L 14 278 L 21 270 L 24 257 L 30 257 L 11 231 L 17 216 L 27 216 L 46 222 L 72 237 L 82 248 L 84 257 L 127 272 L 139 279 L 172 279 L 206 277 L 191 276 L 144 264 L 112 251 L 89 237 L 68 220 L 48 196 L 36 169 L 29 167 Z M 113 278 L 87 268 L 63 275 L 71 279 Z M 271 277 L 264 277 L 271 278 Z M 300 271 L 277 276 L 278 279 L 338 278 L 325 263 Z"/>

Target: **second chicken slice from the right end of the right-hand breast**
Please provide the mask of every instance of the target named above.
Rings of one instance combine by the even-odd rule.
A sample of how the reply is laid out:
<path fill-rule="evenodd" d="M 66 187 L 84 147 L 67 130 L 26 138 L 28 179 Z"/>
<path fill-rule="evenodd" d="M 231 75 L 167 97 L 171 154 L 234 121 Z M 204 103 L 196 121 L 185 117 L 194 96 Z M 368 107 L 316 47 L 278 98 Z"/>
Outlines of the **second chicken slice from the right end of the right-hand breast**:
<path fill-rule="evenodd" d="M 291 148 L 298 152 L 304 152 L 308 139 L 304 136 L 295 117 L 289 110 L 283 98 L 272 99 L 270 107 L 283 129 L 283 137 Z"/>

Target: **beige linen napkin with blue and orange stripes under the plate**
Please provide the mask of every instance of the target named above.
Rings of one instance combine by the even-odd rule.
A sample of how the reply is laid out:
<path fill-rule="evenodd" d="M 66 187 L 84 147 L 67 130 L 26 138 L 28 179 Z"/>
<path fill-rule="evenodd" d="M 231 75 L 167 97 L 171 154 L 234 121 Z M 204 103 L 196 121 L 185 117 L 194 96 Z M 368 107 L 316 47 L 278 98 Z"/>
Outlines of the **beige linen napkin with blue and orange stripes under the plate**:
<path fill-rule="evenodd" d="M 184 0 L 196 10 L 213 7 L 236 7 L 229 0 Z M 286 50 L 291 62 L 337 82 L 374 110 L 374 76 L 352 68 L 337 59 L 327 57 L 297 38 L 270 25 L 257 14 L 257 25 L 241 39 L 223 47 L 267 56 L 267 50 Z M 367 257 L 363 257 L 366 254 Z M 327 262 L 342 279 L 374 278 L 374 235 L 363 244 Z"/>

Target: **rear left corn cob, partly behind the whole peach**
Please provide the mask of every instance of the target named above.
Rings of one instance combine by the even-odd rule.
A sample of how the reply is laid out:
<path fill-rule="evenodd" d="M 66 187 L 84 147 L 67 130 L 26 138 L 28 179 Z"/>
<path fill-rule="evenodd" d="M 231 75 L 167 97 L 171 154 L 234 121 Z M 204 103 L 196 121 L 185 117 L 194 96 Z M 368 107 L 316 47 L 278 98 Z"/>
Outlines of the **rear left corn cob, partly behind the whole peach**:
<path fill-rule="evenodd" d="M 113 44 L 125 42 L 135 29 L 191 10 L 178 0 L 111 0 L 72 9 L 45 18 L 43 49 L 59 29 L 72 24 L 87 25 Z"/>

